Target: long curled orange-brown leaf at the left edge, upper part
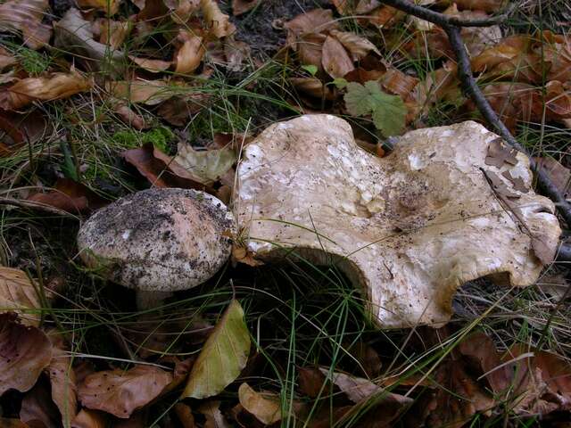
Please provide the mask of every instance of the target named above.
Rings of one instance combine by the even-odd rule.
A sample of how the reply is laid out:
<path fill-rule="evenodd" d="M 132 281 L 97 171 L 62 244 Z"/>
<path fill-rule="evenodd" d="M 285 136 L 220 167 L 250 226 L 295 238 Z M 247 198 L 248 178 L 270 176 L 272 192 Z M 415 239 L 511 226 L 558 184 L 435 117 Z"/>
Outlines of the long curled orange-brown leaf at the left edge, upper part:
<path fill-rule="evenodd" d="M 79 73 L 53 73 L 46 78 L 22 78 L 0 94 L 0 107 L 18 110 L 34 101 L 54 101 L 91 89 L 89 78 Z"/>

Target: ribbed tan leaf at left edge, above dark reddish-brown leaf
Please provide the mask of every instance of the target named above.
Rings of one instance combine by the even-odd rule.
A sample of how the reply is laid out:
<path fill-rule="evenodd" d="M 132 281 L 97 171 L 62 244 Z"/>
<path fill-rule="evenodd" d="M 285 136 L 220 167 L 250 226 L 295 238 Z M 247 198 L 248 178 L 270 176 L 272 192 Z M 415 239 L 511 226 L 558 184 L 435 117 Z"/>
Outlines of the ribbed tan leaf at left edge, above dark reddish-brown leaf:
<path fill-rule="evenodd" d="M 21 309 L 40 307 L 37 292 L 26 273 L 20 269 L 0 267 L 0 308 L 14 310 L 22 318 L 22 324 L 37 327 L 40 318 Z"/>

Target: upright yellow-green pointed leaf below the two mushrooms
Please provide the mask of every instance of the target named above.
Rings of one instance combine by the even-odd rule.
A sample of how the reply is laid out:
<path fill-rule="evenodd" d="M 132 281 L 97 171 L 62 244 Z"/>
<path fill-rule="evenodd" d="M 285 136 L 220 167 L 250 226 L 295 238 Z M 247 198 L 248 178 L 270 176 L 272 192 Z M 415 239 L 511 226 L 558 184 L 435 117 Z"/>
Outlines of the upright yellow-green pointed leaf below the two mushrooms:
<path fill-rule="evenodd" d="M 244 309 L 232 300 L 188 375 L 182 397 L 205 399 L 218 395 L 240 374 L 250 353 L 250 333 Z"/>

